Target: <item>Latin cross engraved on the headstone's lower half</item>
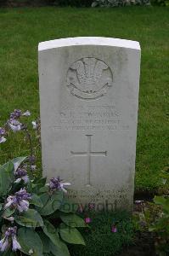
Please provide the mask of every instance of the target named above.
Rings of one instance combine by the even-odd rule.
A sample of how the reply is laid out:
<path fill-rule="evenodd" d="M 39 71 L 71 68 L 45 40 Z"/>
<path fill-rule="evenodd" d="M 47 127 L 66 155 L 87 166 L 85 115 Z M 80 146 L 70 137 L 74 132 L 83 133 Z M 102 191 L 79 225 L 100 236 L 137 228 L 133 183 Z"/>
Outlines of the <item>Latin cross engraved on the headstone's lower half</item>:
<path fill-rule="evenodd" d="M 94 155 L 107 156 L 107 151 L 96 152 L 96 151 L 92 150 L 92 136 L 93 135 L 86 135 L 86 137 L 87 137 L 87 151 L 86 152 L 70 151 L 71 154 L 76 155 L 76 156 L 80 156 L 80 155 L 87 156 L 87 162 L 88 162 L 88 164 L 87 164 L 87 186 L 91 186 L 92 156 L 94 156 Z"/>

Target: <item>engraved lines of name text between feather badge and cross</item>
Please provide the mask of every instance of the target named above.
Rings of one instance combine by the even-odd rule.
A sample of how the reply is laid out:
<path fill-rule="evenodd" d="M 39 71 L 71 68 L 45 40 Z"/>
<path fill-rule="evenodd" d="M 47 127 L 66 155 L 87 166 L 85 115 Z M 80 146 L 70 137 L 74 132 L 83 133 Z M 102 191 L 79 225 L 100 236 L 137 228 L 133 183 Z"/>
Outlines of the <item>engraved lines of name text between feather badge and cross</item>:
<path fill-rule="evenodd" d="M 63 108 L 55 119 L 54 129 L 68 131 L 129 130 L 115 106 Z"/>

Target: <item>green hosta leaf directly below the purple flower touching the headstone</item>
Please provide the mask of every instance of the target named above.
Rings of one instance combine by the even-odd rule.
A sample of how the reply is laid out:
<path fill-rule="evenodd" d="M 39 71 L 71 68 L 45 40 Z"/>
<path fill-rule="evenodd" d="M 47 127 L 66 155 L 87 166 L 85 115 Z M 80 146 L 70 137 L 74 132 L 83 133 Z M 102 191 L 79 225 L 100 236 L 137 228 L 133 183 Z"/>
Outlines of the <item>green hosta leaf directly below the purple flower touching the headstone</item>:
<path fill-rule="evenodd" d="M 41 213 L 43 216 L 47 216 L 55 212 L 59 209 L 62 200 L 63 200 L 63 193 L 58 192 L 52 196 L 49 196 L 47 193 L 40 195 L 43 207 L 37 208 L 38 212 Z"/>

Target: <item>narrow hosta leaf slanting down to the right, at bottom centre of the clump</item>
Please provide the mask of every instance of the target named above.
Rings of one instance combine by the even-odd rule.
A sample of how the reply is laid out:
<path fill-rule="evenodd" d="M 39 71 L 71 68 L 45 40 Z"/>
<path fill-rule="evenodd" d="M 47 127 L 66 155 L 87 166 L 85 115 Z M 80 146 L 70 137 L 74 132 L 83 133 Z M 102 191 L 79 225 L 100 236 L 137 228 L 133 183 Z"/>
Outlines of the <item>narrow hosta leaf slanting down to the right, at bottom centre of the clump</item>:
<path fill-rule="evenodd" d="M 46 236 L 54 243 L 55 246 L 59 247 L 60 240 L 57 230 L 54 228 L 54 225 L 51 224 L 48 220 L 44 219 L 44 226 L 42 227 L 43 232 Z"/>

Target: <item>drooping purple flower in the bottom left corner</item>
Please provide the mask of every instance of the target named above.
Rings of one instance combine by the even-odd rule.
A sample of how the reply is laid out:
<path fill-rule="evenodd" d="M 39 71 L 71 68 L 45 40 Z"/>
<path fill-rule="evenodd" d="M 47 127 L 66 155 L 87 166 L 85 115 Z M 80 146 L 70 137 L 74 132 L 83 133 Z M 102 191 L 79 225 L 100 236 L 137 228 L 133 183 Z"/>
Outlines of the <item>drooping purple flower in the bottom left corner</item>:
<path fill-rule="evenodd" d="M 20 243 L 17 241 L 17 238 L 16 238 L 16 231 L 17 231 L 17 227 L 14 227 L 14 228 L 11 227 L 11 228 L 8 228 L 8 230 L 6 230 L 5 236 L 0 241 L 1 252 L 6 251 L 6 249 L 10 245 L 10 241 L 12 241 L 12 250 L 14 252 L 18 249 L 19 250 L 21 249 Z"/>

